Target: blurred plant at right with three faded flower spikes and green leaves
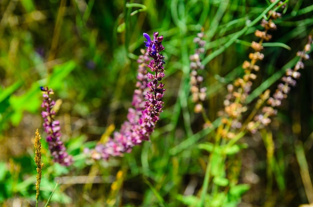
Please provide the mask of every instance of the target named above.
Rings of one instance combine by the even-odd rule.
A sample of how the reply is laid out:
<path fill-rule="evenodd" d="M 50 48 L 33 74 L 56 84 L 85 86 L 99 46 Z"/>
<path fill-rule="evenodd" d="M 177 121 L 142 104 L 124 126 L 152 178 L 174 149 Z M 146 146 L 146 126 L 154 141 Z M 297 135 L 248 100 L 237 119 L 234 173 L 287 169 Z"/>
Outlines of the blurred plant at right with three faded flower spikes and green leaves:
<path fill-rule="evenodd" d="M 277 6 L 283 7 L 284 5 L 280 2 Z M 199 206 L 209 205 L 214 202 L 226 204 L 224 202 L 240 201 L 242 193 L 247 191 L 248 187 L 238 184 L 237 176 L 239 174 L 233 174 L 233 166 L 236 166 L 237 164 L 235 163 L 237 162 L 230 159 L 230 157 L 237 154 L 240 149 L 245 148 L 245 145 L 236 143 L 247 133 L 255 134 L 271 122 L 270 117 L 277 113 L 274 107 L 280 106 L 281 101 L 287 97 L 290 86 L 295 86 L 296 79 L 300 77 L 298 70 L 304 67 L 302 60 L 309 58 L 307 53 L 310 52 L 311 36 L 308 37 L 308 42 L 304 46 L 303 51 L 297 52 L 296 55 L 299 57 L 299 60 L 293 69 L 286 70 L 285 76 L 281 78 L 283 83 L 277 85 L 275 92 L 270 96 L 270 90 L 267 89 L 259 96 L 254 106 L 251 107 L 247 104 L 246 99 L 251 93 L 253 81 L 257 78 L 257 72 L 260 70 L 260 67 L 256 63 L 264 58 L 264 54 L 261 52 L 264 49 L 262 43 L 271 39 L 272 36 L 268 32 L 277 29 L 274 20 L 279 17 L 281 17 L 280 13 L 270 10 L 268 12 L 268 18 L 261 20 L 260 25 L 264 29 L 254 32 L 254 35 L 260 39 L 258 42 L 252 41 L 250 44 L 254 52 L 248 55 L 250 60 L 244 61 L 242 64 L 243 76 L 236 78 L 233 83 L 227 85 L 228 93 L 223 101 L 224 108 L 218 112 L 221 123 L 211 133 L 212 139 L 209 140 L 210 142 L 199 145 L 201 149 L 210 153 L 201 189 Z M 196 50 L 194 55 L 190 56 L 190 91 L 191 99 L 196 103 L 194 112 L 202 112 L 203 119 L 206 120 L 206 115 L 203 113 L 205 109 L 203 109 L 201 103 L 205 98 L 205 95 L 201 95 L 201 92 L 204 92 L 205 89 L 202 88 L 201 91 L 199 87 L 200 83 L 203 82 L 203 78 L 198 74 L 199 69 L 203 69 L 201 59 L 199 59 L 199 53 L 204 52 L 203 45 L 205 41 L 201 40 L 201 37 L 203 37 L 203 34 L 199 33 L 194 38 L 194 42 L 198 44 L 199 49 Z M 207 123 L 204 127 L 211 128 L 211 122 Z M 214 189 L 212 191 L 208 191 L 208 183 L 210 181 L 212 181 L 211 188 Z M 241 190 L 237 194 L 234 194 L 235 190 L 233 189 Z M 266 193 L 266 196 L 270 196 L 270 193 Z M 232 197 L 233 201 L 227 199 L 213 199 L 212 201 L 208 201 L 207 194 L 209 194 L 210 199 L 217 198 L 218 195 L 222 197 L 227 195 L 227 198 Z"/>

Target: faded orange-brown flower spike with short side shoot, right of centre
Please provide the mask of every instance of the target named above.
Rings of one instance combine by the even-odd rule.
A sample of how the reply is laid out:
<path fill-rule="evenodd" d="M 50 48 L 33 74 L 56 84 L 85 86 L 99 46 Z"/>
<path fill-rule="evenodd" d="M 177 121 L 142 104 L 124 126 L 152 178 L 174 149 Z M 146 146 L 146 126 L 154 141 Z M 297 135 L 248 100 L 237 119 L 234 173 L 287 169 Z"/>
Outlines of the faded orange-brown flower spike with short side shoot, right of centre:
<path fill-rule="evenodd" d="M 257 72 L 259 66 L 256 64 L 257 61 L 261 61 L 264 58 L 264 54 L 261 53 L 263 49 L 262 43 L 264 41 L 269 41 L 271 35 L 268 34 L 269 30 L 276 29 L 276 25 L 273 20 L 280 17 L 280 13 L 275 11 L 269 11 L 270 17 L 268 20 L 262 19 L 260 25 L 264 28 L 263 31 L 256 30 L 254 35 L 259 39 L 258 42 L 252 41 L 251 48 L 254 52 L 249 54 L 250 61 L 244 61 L 242 64 L 242 69 L 244 70 L 244 75 L 242 78 L 237 78 L 233 84 L 227 85 L 228 94 L 223 102 L 224 110 L 219 112 L 219 115 L 223 116 L 223 124 L 225 124 L 225 130 L 222 133 L 223 137 L 233 138 L 237 133 L 237 130 L 243 131 L 248 130 L 252 133 L 255 131 L 252 130 L 250 120 L 255 116 L 255 112 L 259 109 L 261 104 L 268 98 L 266 94 L 258 100 L 258 104 L 255 106 L 249 116 L 243 120 L 242 116 L 247 112 L 248 108 L 246 106 L 246 97 L 251 91 L 253 80 L 257 77 Z"/>

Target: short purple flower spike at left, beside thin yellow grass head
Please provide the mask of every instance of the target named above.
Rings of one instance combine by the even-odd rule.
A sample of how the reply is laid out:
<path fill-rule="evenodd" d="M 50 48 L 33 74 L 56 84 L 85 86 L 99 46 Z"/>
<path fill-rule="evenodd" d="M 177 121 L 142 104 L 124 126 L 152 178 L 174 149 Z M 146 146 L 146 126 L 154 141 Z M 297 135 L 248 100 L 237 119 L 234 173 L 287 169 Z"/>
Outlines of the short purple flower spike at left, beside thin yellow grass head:
<path fill-rule="evenodd" d="M 50 94 L 53 94 L 53 91 L 52 89 L 48 89 L 48 87 L 40 87 L 40 90 L 43 91 L 43 102 L 41 107 L 45 109 L 45 111 L 41 112 L 41 116 L 44 120 L 43 129 L 47 134 L 46 142 L 49 145 L 53 161 L 63 166 L 69 166 L 73 162 L 72 156 L 66 153 L 66 148 L 60 140 L 61 133 L 59 121 L 53 119 L 55 111 L 52 110 L 52 107 L 55 102 L 50 98 Z"/>

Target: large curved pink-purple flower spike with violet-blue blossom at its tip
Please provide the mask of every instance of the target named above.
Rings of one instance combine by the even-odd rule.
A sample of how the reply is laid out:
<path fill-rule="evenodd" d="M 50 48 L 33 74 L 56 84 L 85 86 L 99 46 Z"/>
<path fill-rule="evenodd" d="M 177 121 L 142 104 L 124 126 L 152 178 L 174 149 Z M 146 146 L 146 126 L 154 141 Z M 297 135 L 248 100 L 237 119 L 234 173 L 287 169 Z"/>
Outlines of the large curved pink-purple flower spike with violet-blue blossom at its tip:
<path fill-rule="evenodd" d="M 134 108 L 128 109 L 127 121 L 125 121 L 119 132 L 114 132 L 113 138 L 105 144 L 98 144 L 94 149 L 85 149 L 85 153 L 91 158 L 107 160 L 110 156 L 122 156 L 129 153 L 135 145 L 149 140 L 154 130 L 155 123 L 162 112 L 164 84 L 160 81 L 164 77 L 164 56 L 160 53 L 164 50 L 162 45 L 163 36 L 158 32 L 153 33 L 153 40 L 147 33 L 143 33 L 146 51 L 141 51 L 138 58 L 138 74 L 136 90 L 132 98 Z M 152 59 L 150 59 L 152 58 Z M 151 72 L 147 72 L 150 68 Z"/>

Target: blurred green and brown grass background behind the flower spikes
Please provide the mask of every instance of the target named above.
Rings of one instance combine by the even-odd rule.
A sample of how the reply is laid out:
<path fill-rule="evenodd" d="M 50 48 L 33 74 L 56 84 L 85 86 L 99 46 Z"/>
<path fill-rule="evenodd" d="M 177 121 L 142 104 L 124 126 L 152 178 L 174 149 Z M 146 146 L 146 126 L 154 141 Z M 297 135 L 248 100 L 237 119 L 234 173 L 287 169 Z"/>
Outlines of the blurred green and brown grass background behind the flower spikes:
<path fill-rule="evenodd" d="M 270 42 L 283 46 L 264 46 L 254 97 L 266 88 L 275 90 L 313 33 L 311 0 L 285 2 L 277 29 L 269 32 Z M 44 163 L 41 201 L 60 182 L 50 206 L 187 206 L 182 195 L 197 195 L 202 186 L 208 154 L 197 146 L 209 134 L 189 97 L 192 40 L 204 31 L 204 107 L 214 121 L 223 108 L 226 84 L 243 74 L 241 65 L 252 52 L 249 44 L 257 41 L 253 33 L 261 29 L 258 17 L 269 5 L 263 0 L 1 0 L 0 204 L 34 206 L 33 139 L 38 128 Z M 164 36 L 166 91 L 151 142 L 108 162 L 86 159 L 85 147 L 125 121 L 135 89 L 136 59 L 144 48 L 142 33 L 151 36 L 154 31 Z M 313 62 L 304 65 L 297 85 L 266 128 L 276 165 L 268 171 L 268 149 L 260 133 L 240 140 L 247 147 L 234 156 L 241 163 L 238 182 L 250 189 L 234 206 L 313 202 L 307 194 L 313 195 Z M 260 85 L 265 81 L 268 84 Z M 69 168 L 52 163 L 44 142 L 39 86 L 52 88 L 52 98 L 59 100 L 55 118 L 75 160 Z"/>

